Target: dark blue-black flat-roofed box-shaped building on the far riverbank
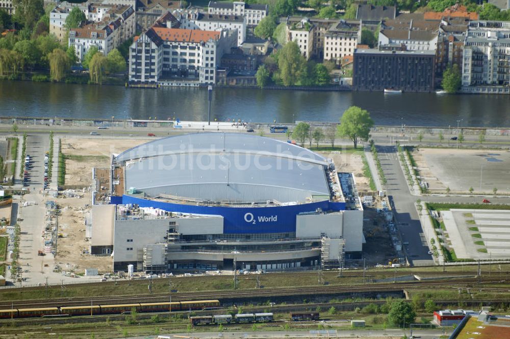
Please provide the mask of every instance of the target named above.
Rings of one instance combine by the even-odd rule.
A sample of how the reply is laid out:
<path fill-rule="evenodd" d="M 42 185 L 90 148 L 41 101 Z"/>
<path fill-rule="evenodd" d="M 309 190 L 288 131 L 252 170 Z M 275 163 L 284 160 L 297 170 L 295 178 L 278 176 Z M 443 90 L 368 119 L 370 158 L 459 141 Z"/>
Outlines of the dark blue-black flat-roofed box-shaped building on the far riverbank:
<path fill-rule="evenodd" d="M 356 49 L 352 88 L 368 91 L 433 91 L 435 57 L 435 51 L 406 51 L 405 45 Z"/>

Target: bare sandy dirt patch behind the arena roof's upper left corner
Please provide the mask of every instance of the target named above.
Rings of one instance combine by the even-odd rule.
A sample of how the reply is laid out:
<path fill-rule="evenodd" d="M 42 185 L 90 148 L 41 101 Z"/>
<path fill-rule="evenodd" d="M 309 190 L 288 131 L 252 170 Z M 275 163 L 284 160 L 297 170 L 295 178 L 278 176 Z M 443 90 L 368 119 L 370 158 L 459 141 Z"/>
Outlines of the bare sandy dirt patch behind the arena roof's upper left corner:
<path fill-rule="evenodd" d="M 147 142 L 146 139 L 62 139 L 62 153 L 71 156 L 66 159 L 65 184 L 87 187 L 92 184 L 92 167 L 109 167 L 112 153 Z"/>

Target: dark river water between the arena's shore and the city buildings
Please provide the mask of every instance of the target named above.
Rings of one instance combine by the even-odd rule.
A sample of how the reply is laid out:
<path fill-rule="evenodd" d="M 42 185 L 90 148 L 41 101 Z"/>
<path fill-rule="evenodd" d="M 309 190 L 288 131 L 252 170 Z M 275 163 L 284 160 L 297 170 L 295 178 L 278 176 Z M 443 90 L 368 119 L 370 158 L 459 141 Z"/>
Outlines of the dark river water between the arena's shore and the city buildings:
<path fill-rule="evenodd" d="M 376 125 L 510 127 L 510 95 L 216 88 L 212 120 L 337 122 L 349 106 Z M 207 120 L 207 89 L 0 81 L 0 116 Z"/>

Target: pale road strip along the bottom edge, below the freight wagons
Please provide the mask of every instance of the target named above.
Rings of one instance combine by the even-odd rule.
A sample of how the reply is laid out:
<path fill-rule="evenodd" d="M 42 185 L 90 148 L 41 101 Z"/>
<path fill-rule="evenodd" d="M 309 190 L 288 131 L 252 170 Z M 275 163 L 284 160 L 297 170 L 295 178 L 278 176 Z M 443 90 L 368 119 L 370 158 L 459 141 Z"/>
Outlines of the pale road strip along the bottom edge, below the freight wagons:
<path fill-rule="evenodd" d="M 228 325 L 226 325 L 228 326 Z M 330 330 L 331 331 L 331 330 Z M 191 333 L 179 333 L 179 334 L 160 334 L 160 336 L 167 336 L 172 339 L 177 338 L 229 338 L 229 339 L 245 339 L 245 338 L 315 338 L 315 337 L 371 337 L 371 338 L 398 338 L 400 339 L 404 334 L 407 336 L 411 335 L 411 330 L 352 330 L 352 329 L 339 329 L 338 331 L 332 330 L 330 334 L 318 335 L 311 331 L 239 331 L 239 332 L 191 332 Z M 335 333 L 336 332 L 336 333 Z M 336 335 L 335 335 L 336 334 Z M 423 339 L 435 339 L 443 335 L 442 330 L 413 330 L 413 335 Z M 448 334 L 448 333 L 447 333 Z M 154 336 L 136 336 L 132 338 L 144 339 L 144 338 L 155 338 Z"/>

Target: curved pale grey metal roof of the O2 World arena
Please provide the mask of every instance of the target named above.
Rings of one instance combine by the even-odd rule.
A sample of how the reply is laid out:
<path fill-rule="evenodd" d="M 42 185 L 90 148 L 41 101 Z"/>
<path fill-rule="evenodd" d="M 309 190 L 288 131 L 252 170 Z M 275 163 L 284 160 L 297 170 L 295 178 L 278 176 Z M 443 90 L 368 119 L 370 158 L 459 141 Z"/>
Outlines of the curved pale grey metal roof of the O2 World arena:
<path fill-rule="evenodd" d="M 329 196 L 327 160 L 304 148 L 241 133 L 198 133 L 147 142 L 114 159 L 125 187 L 199 201 L 305 202 Z"/>

